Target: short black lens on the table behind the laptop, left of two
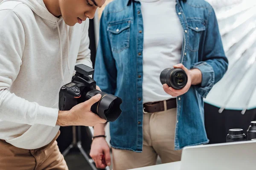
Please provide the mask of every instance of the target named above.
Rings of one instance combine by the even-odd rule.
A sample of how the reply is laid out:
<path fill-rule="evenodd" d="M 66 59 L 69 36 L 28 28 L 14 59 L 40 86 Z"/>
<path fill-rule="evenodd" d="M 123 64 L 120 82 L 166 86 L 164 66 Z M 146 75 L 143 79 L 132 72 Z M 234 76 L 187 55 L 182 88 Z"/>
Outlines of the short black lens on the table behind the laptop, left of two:
<path fill-rule="evenodd" d="M 247 141 L 243 129 L 230 129 L 228 130 L 226 142 L 241 142 Z"/>

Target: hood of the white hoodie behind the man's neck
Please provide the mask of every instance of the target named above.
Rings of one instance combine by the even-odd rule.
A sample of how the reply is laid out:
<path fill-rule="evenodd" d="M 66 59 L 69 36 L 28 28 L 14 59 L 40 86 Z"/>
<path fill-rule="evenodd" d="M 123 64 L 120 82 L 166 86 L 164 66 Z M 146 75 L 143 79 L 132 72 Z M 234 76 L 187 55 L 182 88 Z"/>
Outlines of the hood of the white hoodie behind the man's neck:
<path fill-rule="evenodd" d="M 58 18 L 58 17 L 55 17 L 54 15 L 52 15 L 47 10 L 46 6 L 44 5 L 43 0 L 0 0 L 0 3 L 1 3 L 1 1 L 3 1 L 3 2 L 6 2 L 6 1 L 21 2 L 21 3 L 25 4 L 26 6 L 28 6 L 33 12 L 35 12 L 35 14 L 37 14 L 41 18 L 44 18 L 45 20 L 50 20 L 52 22 L 56 22 L 62 18 L 62 17 Z"/>

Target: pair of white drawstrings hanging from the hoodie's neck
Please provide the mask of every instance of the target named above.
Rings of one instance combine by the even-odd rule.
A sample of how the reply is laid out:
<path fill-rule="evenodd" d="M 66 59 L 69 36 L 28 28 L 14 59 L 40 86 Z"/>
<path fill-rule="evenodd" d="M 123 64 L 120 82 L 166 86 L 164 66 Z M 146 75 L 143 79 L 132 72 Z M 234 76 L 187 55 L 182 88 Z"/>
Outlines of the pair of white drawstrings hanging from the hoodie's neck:
<path fill-rule="evenodd" d="M 61 78 L 62 78 L 62 81 L 63 81 L 63 83 L 65 84 L 65 81 L 64 81 L 64 73 L 63 73 L 63 68 L 62 68 L 62 44 L 61 44 L 61 31 L 60 31 L 60 27 L 59 27 L 59 25 L 58 25 L 58 21 L 56 21 L 56 24 L 57 24 L 57 28 L 58 28 L 58 35 L 59 35 L 59 40 L 60 40 L 60 59 L 61 59 Z M 67 25 L 66 25 L 66 33 L 67 33 L 67 43 L 68 43 L 68 45 L 67 45 L 67 57 L 66 57 L 66 59 L 67 59 L 67 68 L 68 68 L 68 71 L 69 71 L 69 74 L 71 74 L 70 73 L 70 65 L 69 65 L 69 48 L 70 48 L 70 42 L 69 42 L 69 35 L 68 35 L 68 29 L 67 29 Z"/>

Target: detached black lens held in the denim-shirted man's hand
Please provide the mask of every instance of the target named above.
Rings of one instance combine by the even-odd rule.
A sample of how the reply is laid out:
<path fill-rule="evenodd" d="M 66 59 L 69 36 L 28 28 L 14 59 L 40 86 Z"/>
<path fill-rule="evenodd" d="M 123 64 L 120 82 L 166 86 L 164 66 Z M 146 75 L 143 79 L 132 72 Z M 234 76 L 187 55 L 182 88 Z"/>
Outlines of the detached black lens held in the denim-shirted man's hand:
<path fill-rule="evenodd" d="M 166 68 L 160 74 L 160 82 L 174 89 L 182 89 L 188 82 L 188 76 L 181 68 Z"/>

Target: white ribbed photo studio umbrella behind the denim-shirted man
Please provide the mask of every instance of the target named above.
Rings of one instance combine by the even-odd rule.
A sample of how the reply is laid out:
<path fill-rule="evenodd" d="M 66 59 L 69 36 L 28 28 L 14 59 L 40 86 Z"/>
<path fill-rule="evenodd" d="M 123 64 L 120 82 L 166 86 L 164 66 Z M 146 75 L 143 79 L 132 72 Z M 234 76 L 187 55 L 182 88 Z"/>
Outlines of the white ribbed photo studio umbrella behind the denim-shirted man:
<path fill-rule="evenodd" d="M 250 3 L 247 1 L 247 4 Z M 237 6 L 233 8 L 238 10 Z M 218 20 L 229 66 L 204 101 L 220 108 L 220 113 L 229 109 L 244 114 L 256 108 L 256 3 L 250 7 L 243 5 L 240 9 L 233 16 Z"/>

